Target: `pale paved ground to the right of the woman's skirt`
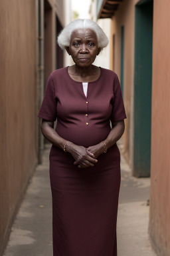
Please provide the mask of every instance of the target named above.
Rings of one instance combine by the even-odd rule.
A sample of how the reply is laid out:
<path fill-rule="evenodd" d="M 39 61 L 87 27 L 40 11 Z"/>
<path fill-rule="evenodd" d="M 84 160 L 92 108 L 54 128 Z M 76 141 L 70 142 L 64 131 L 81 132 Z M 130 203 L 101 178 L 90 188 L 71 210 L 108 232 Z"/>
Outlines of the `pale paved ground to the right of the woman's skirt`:
<path fill-rule="evenodd" d="M 118 209 L 118 256 L 155 256 L 148 237 L 149 178 L 131 177 L 122 157 Z"/>

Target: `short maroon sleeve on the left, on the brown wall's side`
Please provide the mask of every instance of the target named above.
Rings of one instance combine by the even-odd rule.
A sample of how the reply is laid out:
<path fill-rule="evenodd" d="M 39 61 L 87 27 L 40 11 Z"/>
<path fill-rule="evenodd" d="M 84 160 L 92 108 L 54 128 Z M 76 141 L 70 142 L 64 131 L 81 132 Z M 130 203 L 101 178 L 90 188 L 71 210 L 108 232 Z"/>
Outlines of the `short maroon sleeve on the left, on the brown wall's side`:
<path fill-rule="evenodd" d="M 44 99 L 42 101 L 38 117 L 52 122 L 56 120 L 56 98 L 54 81 L 51 75 L 48 77 L 48 81 L 46 83 Z"/>

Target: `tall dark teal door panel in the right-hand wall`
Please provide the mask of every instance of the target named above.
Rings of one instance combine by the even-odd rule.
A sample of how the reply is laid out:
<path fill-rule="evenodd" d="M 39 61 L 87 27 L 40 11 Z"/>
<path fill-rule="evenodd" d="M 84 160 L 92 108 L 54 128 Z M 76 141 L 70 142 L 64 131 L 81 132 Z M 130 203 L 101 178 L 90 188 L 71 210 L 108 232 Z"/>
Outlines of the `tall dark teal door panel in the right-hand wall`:
<path fill-rule="evenodd" d="M 151 159 L 153 1 L 135 6 L 133 175 L 148 177 Z"/>

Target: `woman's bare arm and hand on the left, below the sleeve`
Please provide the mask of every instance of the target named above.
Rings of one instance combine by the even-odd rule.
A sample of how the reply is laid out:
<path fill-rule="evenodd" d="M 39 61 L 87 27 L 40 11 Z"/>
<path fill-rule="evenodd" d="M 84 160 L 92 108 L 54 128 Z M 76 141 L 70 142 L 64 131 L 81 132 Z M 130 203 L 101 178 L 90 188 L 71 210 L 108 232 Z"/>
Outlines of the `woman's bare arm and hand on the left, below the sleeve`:
<path fill-rule="evenodd" d="M 75 145 L 70 141 L 66 143 L 66 139 L 60 137 L 58 133 L 56 133 L 56 131 L 54 130 L 54 122 L 42 119 L 41 131 L 44 137 L 48 139 L 48 141 L 50 141 L 52 145 L 59 147 L 63 150 L 64 145 L 66 144 L 66 151 L 69 152 L 72 157 L 74 157 L 74 165 L 78 164 L 79 168 L 94 166 L 94 163 L 98 161 L 95 159 L 93 153 L 87 153 L 85 147 Z"/>

